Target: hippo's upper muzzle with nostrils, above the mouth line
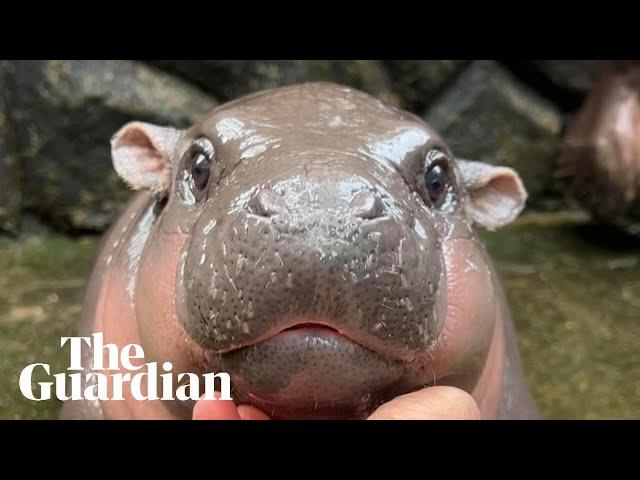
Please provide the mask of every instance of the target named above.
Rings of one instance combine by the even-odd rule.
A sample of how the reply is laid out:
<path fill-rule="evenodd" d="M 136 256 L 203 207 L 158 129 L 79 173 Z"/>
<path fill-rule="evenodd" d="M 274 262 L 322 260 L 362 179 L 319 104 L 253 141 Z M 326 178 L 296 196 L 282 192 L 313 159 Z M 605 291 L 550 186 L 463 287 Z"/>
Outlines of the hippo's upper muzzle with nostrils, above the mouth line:
<path fill-rule="evenodd" d="M 183 269 L 183 322 L 207 349 L 228 352 L 299 323 L 327 325 L 390 358 L 433 341 L 436 245 L 375 185 L 292 176 L 231 214 L 211 208 Z"/>

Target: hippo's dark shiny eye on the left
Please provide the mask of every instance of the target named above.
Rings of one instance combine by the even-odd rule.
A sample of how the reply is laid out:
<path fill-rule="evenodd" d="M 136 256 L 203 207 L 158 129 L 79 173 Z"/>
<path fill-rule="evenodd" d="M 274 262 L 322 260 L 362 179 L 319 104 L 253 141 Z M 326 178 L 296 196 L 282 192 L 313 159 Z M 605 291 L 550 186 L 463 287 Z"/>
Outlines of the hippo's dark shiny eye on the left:
<path fill-rule="evenodd" d="M 181 181 L 186 203 L 194 204 L 205 197 L 214 165 L 213 153 L 213 144 L 206 138 L 197 139 L 187 151 Z"/>

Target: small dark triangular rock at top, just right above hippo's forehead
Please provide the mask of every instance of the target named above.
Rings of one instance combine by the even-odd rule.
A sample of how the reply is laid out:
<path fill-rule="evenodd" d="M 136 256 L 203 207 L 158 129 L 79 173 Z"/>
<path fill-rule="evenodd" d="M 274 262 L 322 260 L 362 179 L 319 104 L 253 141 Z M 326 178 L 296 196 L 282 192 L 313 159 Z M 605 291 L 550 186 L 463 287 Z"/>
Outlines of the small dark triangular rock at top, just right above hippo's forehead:
<path fill-rule="evenodd" d="M 400 106 L 423 113 L 467 60 L 385 60 Z"/>

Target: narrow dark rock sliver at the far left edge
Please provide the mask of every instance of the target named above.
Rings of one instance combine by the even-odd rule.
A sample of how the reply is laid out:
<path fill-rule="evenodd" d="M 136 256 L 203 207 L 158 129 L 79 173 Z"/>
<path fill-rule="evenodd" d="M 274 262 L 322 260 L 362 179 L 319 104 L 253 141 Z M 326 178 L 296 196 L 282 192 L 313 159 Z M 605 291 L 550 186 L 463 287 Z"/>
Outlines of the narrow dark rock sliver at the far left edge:
<path fill-rule="evenodd" d="M 17 232 L 20 199 L 20 169 L 14 152 L 13 132 L 0 91 L 0 231 Z"/>

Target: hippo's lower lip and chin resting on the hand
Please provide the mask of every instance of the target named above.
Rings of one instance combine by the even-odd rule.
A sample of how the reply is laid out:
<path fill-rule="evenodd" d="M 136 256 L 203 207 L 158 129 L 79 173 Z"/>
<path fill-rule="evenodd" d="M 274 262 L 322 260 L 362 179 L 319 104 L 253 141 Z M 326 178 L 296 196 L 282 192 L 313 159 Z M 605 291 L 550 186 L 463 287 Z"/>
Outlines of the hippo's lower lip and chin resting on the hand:
<path fill-rule="evenodd" d="M 299 321 L 220 356 L 234 399 L 275 418 L 362 417 L 397 390 L 405 363 L 319 322 Z"/>

